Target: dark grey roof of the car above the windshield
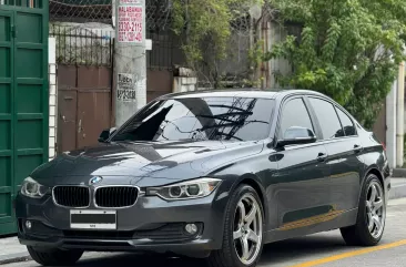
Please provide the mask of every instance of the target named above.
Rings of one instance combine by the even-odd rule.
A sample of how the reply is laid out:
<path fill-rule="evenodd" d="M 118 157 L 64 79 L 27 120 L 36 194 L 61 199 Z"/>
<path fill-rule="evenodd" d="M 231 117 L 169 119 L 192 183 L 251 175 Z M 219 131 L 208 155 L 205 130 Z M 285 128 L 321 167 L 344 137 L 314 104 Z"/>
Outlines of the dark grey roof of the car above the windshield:
<path fill-rule="evenodd" d="M 254 97 L 254 99 L 276 99 L 294 94 L 318 95 L 328 97 L 322 93 L 311 90 L 260 90 L 260 89 L 222 89 L 222 90 L 202 90 L 182 93 L 171 93 L 161 96 L 160 99 L 192 99 L 192 97 Z"/>

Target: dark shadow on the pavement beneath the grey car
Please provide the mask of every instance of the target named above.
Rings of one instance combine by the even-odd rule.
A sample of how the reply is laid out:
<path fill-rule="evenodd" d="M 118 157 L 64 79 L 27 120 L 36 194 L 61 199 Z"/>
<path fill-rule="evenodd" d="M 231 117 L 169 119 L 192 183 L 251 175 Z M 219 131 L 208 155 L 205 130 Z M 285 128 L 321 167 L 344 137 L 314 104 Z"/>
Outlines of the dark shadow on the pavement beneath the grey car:
<path fill-rule="evenodd" d="M 258 266 L 292 266 L 304 259 L 325 257 L 351 249 L 338 233 L 317 234 L 277 242 L 264 246 Z M 301 261 L 300 261 L 301 260 Z M 103 254 L 102 257 L 83 258 L 81 267 L 205 267 L 204 259 L 165 257 L 161 255 Z"/>

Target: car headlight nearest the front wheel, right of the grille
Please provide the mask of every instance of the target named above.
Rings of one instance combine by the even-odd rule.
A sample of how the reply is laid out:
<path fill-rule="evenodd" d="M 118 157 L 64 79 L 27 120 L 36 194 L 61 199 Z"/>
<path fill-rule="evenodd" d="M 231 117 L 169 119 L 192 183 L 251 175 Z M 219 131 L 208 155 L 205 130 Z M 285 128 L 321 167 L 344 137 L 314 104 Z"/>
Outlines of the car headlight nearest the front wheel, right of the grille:
<path fill-rule="evenodd" d="M 161 196 L 166 201 L 205 197 L 220 185 L 221 179 L 199 178 L 163 187 L 146 188 L 146 195 Z"/>

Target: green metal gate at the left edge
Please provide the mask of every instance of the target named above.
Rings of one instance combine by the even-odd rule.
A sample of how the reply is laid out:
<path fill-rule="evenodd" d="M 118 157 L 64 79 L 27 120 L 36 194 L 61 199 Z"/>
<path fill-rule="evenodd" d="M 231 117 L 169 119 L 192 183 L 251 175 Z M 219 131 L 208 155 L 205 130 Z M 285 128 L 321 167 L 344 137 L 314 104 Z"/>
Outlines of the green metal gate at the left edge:
<path fill-rule="evenodd" d="M 0 235 L 16 233 L 12 199 L 48 161 L 48 0 L 0 0 Z"/>

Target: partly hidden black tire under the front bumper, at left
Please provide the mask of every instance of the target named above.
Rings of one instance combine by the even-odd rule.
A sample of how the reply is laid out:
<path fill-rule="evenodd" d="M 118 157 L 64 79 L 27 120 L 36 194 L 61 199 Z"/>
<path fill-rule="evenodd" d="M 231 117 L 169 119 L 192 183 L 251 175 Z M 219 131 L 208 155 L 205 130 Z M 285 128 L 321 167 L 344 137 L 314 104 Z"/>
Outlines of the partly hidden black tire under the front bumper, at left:
<path fill-rule="evenodd" d="M 39 251 L 33 247 L 27 247 L 31 258 L 42 266 L 72 266 L 83 255 L 82 250 Z"/>

